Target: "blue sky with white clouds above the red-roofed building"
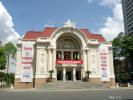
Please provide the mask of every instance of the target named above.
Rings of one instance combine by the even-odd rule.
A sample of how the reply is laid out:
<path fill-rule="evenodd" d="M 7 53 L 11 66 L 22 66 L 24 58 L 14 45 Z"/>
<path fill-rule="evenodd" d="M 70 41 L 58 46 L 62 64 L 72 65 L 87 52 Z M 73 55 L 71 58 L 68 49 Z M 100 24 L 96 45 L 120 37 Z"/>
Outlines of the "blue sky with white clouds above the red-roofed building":
<path fill-rule="evenodd" d="M 78 28 L 102 34 L 107 40 L 123 31 L 120 0 L 1 0 L 2 7 L 5 14 L 0 13 L 3 23 L 0 39 L 3 42 L 16 41 L 29 30 L 62 27 L 67 19 Z M 3 34 L 7 34 L 6 39 Z"/>

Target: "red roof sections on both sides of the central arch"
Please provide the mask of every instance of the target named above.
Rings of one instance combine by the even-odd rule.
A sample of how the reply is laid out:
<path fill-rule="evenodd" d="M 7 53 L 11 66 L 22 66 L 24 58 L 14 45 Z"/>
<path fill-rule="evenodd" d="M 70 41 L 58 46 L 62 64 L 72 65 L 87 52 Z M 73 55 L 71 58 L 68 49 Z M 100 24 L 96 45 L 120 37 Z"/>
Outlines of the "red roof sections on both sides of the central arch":
<path fill-rule="evenodd" d="M 57 27 L 46 27 L 44 31 L 37 32 L 37 31 L 28 31 L 25 33 L 23 40 L 36 40 L 38 37 L 50 37 L 51 34 L 58 29 Z M 106 40 L 100 34 L 93 34 L 89 32 L 88 29 L 80 29 L 83 34 L 89 39 L 98 39 L 99 42 L 105 42 Z"/>

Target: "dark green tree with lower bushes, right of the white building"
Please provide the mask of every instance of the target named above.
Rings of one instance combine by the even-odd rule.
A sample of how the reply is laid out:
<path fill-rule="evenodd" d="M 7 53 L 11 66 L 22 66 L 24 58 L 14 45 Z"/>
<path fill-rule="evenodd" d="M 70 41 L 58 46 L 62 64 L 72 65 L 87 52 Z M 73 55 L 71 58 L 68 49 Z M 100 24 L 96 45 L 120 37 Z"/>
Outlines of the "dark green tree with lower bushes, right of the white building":
<path fill-rule="evenodd" d="M 117 81 L 126 82 L 129 80 L 129 73 L 123 73 L 120 70 L 121 63 L 125 60 L 133 60 L 133 35 L 125 35 L 120 33 L 112 42 L 113 55 L 114 55 L 114 67 Z"/>

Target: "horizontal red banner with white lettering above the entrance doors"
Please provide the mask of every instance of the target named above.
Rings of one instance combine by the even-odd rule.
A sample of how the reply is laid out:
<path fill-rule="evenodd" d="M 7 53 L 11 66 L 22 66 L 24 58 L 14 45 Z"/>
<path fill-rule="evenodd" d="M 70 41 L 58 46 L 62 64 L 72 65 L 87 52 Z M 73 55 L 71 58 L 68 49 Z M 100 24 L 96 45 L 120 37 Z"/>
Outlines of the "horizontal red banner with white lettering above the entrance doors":
<path fill-rule="evenodd" d="M 56 60 L 56 64 L 82 64 L 82 60 Z"/>

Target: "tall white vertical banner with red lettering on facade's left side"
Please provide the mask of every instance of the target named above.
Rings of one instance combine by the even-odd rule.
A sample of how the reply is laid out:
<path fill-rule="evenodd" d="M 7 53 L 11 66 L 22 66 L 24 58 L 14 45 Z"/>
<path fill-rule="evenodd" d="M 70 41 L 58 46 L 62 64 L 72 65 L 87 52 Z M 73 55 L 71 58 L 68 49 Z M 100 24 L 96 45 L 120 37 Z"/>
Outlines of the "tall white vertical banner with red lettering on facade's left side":
<path fill-rule="evenodd" d="M 21 82 L 32 82 L 33 70 L 32 70 L 32 59 L 33 59 L 33 44 L 23 43 L 22 44 L 22 68 L 21 68 Z"/>

